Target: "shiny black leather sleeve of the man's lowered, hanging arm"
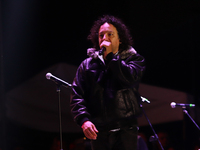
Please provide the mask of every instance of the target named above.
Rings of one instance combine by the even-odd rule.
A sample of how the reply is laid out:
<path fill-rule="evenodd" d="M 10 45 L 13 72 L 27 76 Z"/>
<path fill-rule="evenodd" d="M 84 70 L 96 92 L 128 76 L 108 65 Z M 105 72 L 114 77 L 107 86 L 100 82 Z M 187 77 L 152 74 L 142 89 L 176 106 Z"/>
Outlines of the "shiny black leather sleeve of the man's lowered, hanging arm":
<path fill-rule="evenodd" d="M 85 94 L 85 74 L 84 63 L 82 63 L 76 72 L 76 76 L 72 83 L 72 92 L 70 96 L 70 107 L 74 121 L 78 125 L 82 125 L 85 121 L 89 120 L 90 114 L 86 108 L 86 102 L 84 99 Z"/>

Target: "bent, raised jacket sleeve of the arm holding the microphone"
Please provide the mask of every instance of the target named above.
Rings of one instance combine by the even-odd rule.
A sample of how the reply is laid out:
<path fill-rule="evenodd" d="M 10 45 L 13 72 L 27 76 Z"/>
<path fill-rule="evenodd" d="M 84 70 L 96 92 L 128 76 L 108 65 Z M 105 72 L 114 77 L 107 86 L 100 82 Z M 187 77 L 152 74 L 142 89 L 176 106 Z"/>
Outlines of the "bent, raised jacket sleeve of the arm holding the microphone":
<path fill-rule="evenodd" d="M 134 54 L 126 59 L 121 57 L 110 55 L 110 62 L 107 65 L 107 69 L 114 73 L 115 78 L 124 86 L 131 86 L 138 83 L 145 71 L 145 59 L 139 55 Z"/>

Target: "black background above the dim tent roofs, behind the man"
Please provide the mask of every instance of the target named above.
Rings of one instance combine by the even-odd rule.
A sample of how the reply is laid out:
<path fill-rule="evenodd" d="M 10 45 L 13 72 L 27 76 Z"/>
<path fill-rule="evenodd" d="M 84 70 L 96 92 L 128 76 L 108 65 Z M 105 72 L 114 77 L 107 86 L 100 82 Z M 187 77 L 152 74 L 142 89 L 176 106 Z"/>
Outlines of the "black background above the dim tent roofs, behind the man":
<path fill-rule="evenodd" d="M 133 47 L 146 59 L 142 82 L 189 93 L 200 105 L 198 0 L 2 0 L 0 6 L 2 102 L 4 93 L 53 64 L 78 66 L 92 46 L 93 22 L 111 14 L 130 28 Z"/>

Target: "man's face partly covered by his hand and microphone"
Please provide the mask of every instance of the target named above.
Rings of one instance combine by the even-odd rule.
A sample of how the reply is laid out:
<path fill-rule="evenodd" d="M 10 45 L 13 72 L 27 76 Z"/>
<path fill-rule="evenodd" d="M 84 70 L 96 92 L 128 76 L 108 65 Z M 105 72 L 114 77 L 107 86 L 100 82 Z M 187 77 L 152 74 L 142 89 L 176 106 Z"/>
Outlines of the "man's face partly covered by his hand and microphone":
<path fill-rule="evenodd" d="M 117 29 L 112 24 L 107 22 L 104 23 L 99 29 L 99 46 L 104 41 L 110 43 L 110 47 L 114 54 L 118 52 L 120 39 L 118 36 Z"/>

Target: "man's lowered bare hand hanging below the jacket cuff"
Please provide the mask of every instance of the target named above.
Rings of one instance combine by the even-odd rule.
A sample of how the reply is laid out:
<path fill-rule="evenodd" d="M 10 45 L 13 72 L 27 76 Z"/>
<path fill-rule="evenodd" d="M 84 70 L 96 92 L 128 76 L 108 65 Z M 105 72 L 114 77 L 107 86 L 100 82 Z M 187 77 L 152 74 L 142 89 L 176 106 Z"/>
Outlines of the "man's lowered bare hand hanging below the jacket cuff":
<path fill-rule="evenodd" d="M 99 131 L 96 129 L 95 125 L 92 122 L 84 122 L 81 128 L 83 129 L 83 133 L 88 139 L 96 140 L 97 133 Z"/>

